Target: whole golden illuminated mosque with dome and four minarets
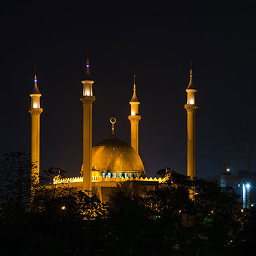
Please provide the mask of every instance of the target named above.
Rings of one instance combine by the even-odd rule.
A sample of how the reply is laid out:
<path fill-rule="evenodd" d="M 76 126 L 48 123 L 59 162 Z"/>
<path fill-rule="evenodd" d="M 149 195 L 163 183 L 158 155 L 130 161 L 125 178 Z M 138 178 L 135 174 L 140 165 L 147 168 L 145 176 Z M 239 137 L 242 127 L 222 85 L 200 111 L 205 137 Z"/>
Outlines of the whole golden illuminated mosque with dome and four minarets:
<path fill-rule="evenodd" d="M 184 108 L 187 112 L 187 174 L 195 176 L 195 86 L 190 68 L 190 82 L 186 88 L 187 102 Z M 89 59 L 86 61 L 86 75 L 82 80 L 83 107 L 83 159 L 80 176 L 53 179 L 57 188 L 70 186 L 73 191 L 92 190 L 101 201 L 106 202 L 111 190 L 118 182 L 134 180 L 138 184 L 140 193 L 156 190 L 162 182 L 161 178 L 147 178 L 144 165 L 138 154 L 138 129 L 141 116 L 139 114 L 139 100 L 136 96 L 136 81 L 134 76 L 133 95 L 130 100 L 130 144 L 114 135 L 115 118 L 111 118 L 112 136 L 92 146 L 92 108 L 96 97 L 93 95 L 94 80 L 90 75 Z M 31 172 L 39 177 L 40 151 L 40 115 L 43 109 L 40 106 L 41 93 L 37 87 L 37 74 L 31 96 L 31 162 L 35 163 Z M 39 178 L 35 180 L 39 182 Z"/>

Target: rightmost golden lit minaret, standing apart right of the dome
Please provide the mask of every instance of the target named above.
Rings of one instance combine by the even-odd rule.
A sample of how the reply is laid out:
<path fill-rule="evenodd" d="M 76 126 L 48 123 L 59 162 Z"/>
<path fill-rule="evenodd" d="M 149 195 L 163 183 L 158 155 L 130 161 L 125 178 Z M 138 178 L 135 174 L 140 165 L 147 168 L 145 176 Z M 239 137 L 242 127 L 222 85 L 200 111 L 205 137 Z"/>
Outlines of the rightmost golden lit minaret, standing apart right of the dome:
<path fill-rule="evenodd" d="M 195 114 L 199 108 L 195 104 L 195 93 L 197 90 L 192 80 L 192 61 L 190 65 L 190 81 L 187 92 L 187 103 L 185 104 L 187 113 L 187 175 L 190 177 L 196 176 L 196 134 L 195 134 Z"/>

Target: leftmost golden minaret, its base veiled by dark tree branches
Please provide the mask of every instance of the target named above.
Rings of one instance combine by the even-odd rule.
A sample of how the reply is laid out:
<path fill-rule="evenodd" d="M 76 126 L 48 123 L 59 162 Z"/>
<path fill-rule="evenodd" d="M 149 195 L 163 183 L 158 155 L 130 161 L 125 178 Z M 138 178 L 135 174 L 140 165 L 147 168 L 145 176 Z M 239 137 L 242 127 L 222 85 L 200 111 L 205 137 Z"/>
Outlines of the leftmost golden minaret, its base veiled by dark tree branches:
<path fill-rule="evenodd" d="M 40 108 L 41 94 L 37 88 L 37 74 L 35 66 L 34 86 L 31 94 L 31 107 L 29 113 L 31 114 L 31 162 L 32 162 L 32 182 L 37 184 L 39 182 L 39 167 L 40 167 L 40 114 L 43 109 Z"/>

